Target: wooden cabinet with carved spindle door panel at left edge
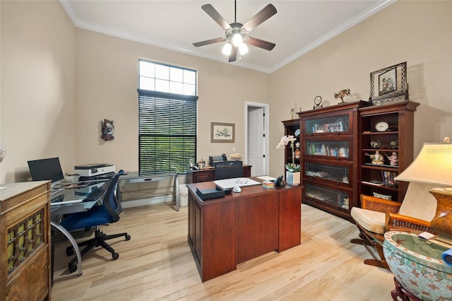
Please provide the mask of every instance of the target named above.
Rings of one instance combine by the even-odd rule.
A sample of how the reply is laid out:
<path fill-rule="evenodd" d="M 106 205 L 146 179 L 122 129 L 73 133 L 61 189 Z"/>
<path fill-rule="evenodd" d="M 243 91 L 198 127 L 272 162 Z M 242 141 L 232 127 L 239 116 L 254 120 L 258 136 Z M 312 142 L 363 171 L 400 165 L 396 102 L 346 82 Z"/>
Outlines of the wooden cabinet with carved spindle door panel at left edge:
<path fill-rule="evenodd" d="M 50 182 L 2 186 L 0 300 L 50 300 Z"/>

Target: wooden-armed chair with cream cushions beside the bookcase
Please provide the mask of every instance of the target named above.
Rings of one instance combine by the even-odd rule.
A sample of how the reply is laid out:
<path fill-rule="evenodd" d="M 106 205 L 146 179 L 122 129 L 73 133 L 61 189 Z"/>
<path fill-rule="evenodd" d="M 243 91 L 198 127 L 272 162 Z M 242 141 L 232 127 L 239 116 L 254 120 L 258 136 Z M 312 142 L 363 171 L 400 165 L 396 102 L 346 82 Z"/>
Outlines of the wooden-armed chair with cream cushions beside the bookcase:
<path fill-rule="evenodd" d="M 388 268 L 381 245 L 388 226 L 436 234 L 430 228 L 430 220 L 436 213 L 436 199 L 429 193 L 429 189 L 433 187 L 431 184 L 410 183 L 402 203 L 361 195 L 361 208 L 353 207 L 351 211 L 359 230 L 359 238 L 350 242 L 364 245 L 371 254 L 372 259 L 365 259 L 364 264 Z"/>

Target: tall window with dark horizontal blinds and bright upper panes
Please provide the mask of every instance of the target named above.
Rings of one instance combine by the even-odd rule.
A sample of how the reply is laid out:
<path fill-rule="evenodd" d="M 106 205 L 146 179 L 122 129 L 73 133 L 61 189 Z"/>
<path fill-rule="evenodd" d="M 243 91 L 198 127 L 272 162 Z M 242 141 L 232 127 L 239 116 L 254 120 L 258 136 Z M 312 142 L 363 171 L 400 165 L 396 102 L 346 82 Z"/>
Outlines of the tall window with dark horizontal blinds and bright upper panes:
<path fill-rule="evenodd" d="M 189 170 L 196 162 L 196 71 L 139 61 L 141 175 Z"/>

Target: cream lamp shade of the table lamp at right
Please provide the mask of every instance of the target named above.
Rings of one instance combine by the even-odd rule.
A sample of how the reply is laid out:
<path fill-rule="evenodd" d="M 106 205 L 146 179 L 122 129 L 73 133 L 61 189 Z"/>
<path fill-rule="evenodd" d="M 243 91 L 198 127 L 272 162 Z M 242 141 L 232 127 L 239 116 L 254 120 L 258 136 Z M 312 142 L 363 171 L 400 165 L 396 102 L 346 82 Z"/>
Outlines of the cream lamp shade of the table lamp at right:
<path fill-rule="evenodd" d="M 452 144 L 424 143 L 417 158 L 394 179 L 452 186 Z"/>

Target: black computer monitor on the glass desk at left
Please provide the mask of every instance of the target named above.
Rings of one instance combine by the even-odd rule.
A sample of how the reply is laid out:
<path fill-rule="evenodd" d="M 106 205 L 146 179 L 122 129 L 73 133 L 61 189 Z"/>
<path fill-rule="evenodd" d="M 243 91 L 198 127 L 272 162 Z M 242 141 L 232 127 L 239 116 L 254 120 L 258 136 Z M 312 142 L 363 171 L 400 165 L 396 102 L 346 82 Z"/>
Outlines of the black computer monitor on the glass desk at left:
<path fill-rule="evenodd" d="M 33 181 L 51 180 L 52 186 L 64 179 L 63 170 L 59 158 L 47 158 L 28 161 L 31 178 Z"/>

